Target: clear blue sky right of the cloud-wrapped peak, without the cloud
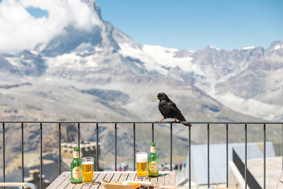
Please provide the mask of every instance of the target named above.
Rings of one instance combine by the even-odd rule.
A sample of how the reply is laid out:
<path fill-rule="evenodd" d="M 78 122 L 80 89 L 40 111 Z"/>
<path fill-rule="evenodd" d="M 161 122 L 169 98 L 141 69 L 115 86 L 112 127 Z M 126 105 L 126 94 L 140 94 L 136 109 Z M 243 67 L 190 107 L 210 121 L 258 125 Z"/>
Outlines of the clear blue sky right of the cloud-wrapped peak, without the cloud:
<path fill-rule="evenodd" d="M 137 43 L 198 50 L 283 40 L 283 1 L 97 0 L 103 20 Z"/>

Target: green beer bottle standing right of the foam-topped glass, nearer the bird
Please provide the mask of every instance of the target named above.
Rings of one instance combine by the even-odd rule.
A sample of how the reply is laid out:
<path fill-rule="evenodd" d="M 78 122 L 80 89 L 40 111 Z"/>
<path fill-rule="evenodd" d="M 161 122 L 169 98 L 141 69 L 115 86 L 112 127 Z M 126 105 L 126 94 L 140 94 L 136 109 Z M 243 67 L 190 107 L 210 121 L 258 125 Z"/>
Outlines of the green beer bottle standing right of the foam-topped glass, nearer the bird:
<path fill-rule="evenodd" d="M 156 155 L 155 142 L 151 143 L 150 154 L 148 156 L 148 176 L 158 176 L 158 156 Z"/>

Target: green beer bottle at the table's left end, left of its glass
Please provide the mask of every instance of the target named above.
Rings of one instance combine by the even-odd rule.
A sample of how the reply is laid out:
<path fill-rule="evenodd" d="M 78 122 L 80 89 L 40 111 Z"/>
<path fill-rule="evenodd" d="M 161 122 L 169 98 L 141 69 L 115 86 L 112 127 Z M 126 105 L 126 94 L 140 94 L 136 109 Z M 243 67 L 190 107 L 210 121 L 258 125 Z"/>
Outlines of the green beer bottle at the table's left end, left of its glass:
<path fill-rule="evenodd" d="M 81 183 L 81 160 L 79 155 L 79 148 L 74 148 L 74 157 L 71 162 L 71 183 Z"/>

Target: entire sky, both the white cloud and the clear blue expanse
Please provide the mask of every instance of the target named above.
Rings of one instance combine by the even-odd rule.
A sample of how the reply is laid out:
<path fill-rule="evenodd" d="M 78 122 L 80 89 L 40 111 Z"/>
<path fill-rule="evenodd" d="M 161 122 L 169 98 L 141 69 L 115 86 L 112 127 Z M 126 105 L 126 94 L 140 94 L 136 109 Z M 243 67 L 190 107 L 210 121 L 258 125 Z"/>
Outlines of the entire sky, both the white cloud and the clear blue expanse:
<path fill-rule="evenodd" d="M 96 0 L 102 18 L 139 44 L 199 50 L 267 49 L 283 40 L 283 0 Z M 68 24 L 87 29 L 91 11 L 79 0 L 0 0 L 0 51 L 48 43 Z M 94 18 L 96 19 L 96 18 Z"/>

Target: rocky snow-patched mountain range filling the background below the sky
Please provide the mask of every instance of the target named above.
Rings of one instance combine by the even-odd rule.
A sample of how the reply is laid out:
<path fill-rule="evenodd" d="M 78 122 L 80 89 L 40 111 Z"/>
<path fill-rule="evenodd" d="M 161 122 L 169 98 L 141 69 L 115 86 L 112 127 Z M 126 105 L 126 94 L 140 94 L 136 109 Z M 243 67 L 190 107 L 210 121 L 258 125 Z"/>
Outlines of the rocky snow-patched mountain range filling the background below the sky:
<path fill-rule="evenodd" d="M 154 100 L 159 92 L 178 105 L 187 121 L 283 120 L 283 41 L 267 50 L 208 46 L 197 52 L 139 45 L 103 21 L 96 2 L 81 1 L 91 9 L 95 26 L 69 25 L 63 34 L 34 50 L 0 55 L 0 120 L 154 121 L 162 118 Z M 155 126 L 163 157 L 169 154 L 169 126 Z M 19 151 L 21 125 L 6 127 L 6 149 Z M 43 136 L 48 137 L 54 127 L 44 124 Z M 95 127 L 81 126 L 81 137 L 95 141 Z M 193 143 L 206 143 L 206 127 L 192 127 Z M 100 124 L 100 128 L 102 147 L 114 153 L 113 124 Z M 225 142 L 226 127 L 213 128 L 211 142 Z M 267 133 L 274 134 L 278 128 Z M 261 130 L 249 126 L 250 140 L 261 141 Z M 117 132 L 118 155 L 132 154 L 132 125 L 118 125 Z M 229 141 L 243 141 L 243 132 L 241 126 L 231 126 Z M 173 133 L 173 153 L 186 155 L 188 128 L 174 124 Z M 137 151 L 146 150 L 151 125 L 137 125 L 136 139 Z M 39 126 L 26 124 L 25 150 L 38 149 L 38 141 Z"/>

